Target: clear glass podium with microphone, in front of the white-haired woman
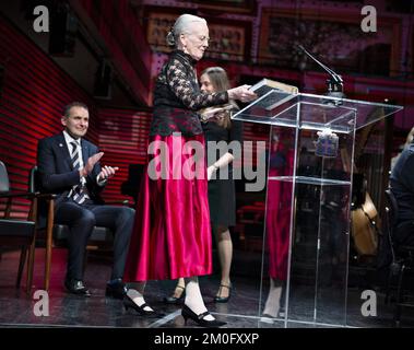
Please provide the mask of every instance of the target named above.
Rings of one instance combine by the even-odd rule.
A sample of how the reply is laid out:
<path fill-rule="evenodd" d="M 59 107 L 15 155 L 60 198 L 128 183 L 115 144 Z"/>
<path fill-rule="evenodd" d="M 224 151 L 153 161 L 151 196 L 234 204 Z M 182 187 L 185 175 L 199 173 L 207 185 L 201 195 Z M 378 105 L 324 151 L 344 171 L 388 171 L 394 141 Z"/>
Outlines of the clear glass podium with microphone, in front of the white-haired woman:
<path fill-rule="evenodd" d="M 232 116 L 270 125 L 259 316 L 271 327 L 346 326 L 355 131 L 400 109 L 272 90 Z"/>

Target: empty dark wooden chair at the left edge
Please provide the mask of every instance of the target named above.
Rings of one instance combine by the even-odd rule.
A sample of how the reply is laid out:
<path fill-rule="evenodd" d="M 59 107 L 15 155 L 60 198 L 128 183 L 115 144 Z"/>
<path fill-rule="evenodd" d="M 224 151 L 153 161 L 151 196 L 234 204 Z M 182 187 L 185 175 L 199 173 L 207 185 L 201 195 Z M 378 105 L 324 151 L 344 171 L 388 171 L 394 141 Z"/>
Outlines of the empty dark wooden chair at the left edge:
<path fill-rule="evenodd" d="M 28 220 L 11 218 L 12 202 L 14 199 L 26 198 L 31 201 Z M 17 270 L 16 288 L 20 288 L 24 265 L 27 260 L 26 291 L 31 292 L 33 281 L 33 266 L 35 257 L 35 218 L 37 211 L 36 194 L 24 191 L 11 191 L 8 171 L 0 161 L 0 199 L 5 200 L 3 217 L 0 219 L 0 247 L 20 248 L 20 262 Z M 27 258 L 28 250 L 28 258 Z M 26 259 L 27 258 L 27 259 Z"/>

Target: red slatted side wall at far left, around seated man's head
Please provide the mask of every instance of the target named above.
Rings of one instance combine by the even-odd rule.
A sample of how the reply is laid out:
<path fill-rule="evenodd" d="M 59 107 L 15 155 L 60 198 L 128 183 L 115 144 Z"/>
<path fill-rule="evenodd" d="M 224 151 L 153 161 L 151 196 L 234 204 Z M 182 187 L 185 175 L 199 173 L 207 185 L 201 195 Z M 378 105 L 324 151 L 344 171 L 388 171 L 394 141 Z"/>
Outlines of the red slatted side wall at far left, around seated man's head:
<path fill-rule="evenodd" d="M 87 138 L 97 142 L 94 102 L 44 51 L 0 19 L 0 65 L 4 68 L 0 100 L 0 160 L 11 187 L 26 190 L 29 170 L 36 163 L 37 140 L 61 130 L 62 107 L 72 101 L 90 106 Z M 13 217 L 25 217 L 28 203 L 15 201 Z M 2 210 L 0 205 L 0 210 Z"/>

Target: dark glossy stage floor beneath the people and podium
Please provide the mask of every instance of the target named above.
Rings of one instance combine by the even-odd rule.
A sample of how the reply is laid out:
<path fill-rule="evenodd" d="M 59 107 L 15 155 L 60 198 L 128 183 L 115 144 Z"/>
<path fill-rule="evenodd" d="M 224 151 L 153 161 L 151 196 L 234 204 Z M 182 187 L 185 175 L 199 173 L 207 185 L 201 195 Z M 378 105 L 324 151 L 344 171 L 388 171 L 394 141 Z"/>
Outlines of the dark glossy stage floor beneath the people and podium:
<path fill-rule="evenodd" d="M 240 257 L 247 259 L 246 252 L 235 252 L 233 268 L 232 296 L 228 303 L 216 304 L 213 298 L 218 288 L 218 276 L 202 277 L 200 284 L 206 307 L 218 319 L 227 322 L 223 328 L 283 328 L 286 324 L 280 319 L 259 317 L 263 301 L 260 300 L 260 270 L 256 277 L 247 271 L 247 266 Z M 181 328 L 198 327 L 191 320 L 187 326 L 180 315 L 179 305 L 164 304 L 163 298 L 171 293 L 174 281 L 150 281 L 146 288 L 146 301 L 155 310 L 165 314 L 161 318 L 145 318 L 133 311 L 126 311 L 120 300 L 105 298 L 105 284 L 110 275 L 110 260 L 107 257 L 92 256 L 85 272 L 85 283 L 92 292 L 92 298 L 81 298 L 64 292 L 62 281 L 66 269 L 66 250 L 55 249 L 52 260 L 52 278 L 50 281 L 49 315 L 36 316 L 37 300 L 34 292 L 43 285 L 44 250 L 36 249 L 35 278 L 32 294 L 25 293 L 25 275 L 22 287 L 16 289 L 15 278 L 19 265 L 19 253 L 3 253 L 0 260 L 0 327 L 122 327 L 122 328 Z M 364 317 L 360 312 L 362 290 L 348 288 L 346 327 L 378 328 L 393 327 L 393 304 L 385 305 L 383 293 L 377 292 L 377 316 Z M 264 292 L 264 296 L 265 296 Z M 327 313 L 332 310 L 327 310 Z M 332 312 L 332 315 L 334 312 Z M 330 319 L 328 324 L 311 324 L 292 322 L 287 327 L 340 327 L 340 319 Z M 404 308 L 402 327 L 414 327 L 413 308 Z"/>

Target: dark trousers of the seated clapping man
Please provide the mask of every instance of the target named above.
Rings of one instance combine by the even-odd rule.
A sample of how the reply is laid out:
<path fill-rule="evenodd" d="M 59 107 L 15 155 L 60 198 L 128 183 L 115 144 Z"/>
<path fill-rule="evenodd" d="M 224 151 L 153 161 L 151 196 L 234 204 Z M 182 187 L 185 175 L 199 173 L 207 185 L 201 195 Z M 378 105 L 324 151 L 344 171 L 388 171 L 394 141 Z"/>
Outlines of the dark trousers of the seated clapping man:
<path fill-rule="evenodd" d="M 122 278 L 134 215 L 135 211 L 131 208 L 100 206 L 92 200 L 78 205 L 68 198 L 60 202 L 55 222 L 70 229 L 67 279 L 83 280 L 85 249 L 95 225 L 108 228 L 115 233 L 111 279 Z"/>

